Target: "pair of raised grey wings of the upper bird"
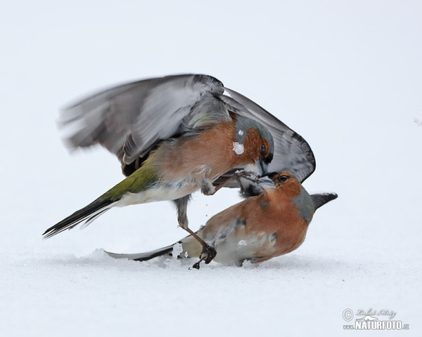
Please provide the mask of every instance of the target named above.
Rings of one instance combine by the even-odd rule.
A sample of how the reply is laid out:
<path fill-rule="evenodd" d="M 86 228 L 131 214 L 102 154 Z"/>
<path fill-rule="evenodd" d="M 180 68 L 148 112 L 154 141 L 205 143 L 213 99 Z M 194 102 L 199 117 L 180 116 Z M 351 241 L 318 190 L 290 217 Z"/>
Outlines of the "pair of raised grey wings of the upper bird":
<path fill-rule="evenodd" d="M 68 129 L 70 147 L 100 144 L 129 165 L 147 156 L 161 140 L 230 120 L 229 111 L 269 129 L 274 138 L 270 171 L 289 171 L 300 181 L 312 174 L 314 154 L 298 133 L 207 75 L 175 75 L 116 86 L 66 108 L 60 121 Z M 238 183 L 232 181 L 227 187 L 238 187 Z"/>

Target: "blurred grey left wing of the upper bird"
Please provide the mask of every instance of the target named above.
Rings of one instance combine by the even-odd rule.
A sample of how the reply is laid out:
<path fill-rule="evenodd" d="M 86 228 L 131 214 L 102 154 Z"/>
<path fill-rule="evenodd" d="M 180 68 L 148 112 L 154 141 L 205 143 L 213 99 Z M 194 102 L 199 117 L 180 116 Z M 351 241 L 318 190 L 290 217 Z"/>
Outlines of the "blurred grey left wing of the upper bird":
<path fill-rule="evenodd" d="M 147 79 L 81 100 L 63 110 L 60 119 L 71 130 L 70 147 L 101 144 L 129 164 L 179 132 L 203 96 L 223 91 L 220 81 L 206 75 Z"/>

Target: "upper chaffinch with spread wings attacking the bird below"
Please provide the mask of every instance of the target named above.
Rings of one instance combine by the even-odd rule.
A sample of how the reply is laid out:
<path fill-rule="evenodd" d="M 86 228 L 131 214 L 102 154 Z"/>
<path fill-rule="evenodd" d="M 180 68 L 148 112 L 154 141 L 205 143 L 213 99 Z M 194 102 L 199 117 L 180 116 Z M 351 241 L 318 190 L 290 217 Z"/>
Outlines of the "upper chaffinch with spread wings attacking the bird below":
<path fill-rule="evenodd" d="M 177 75 L 110 88 L 63 111 L 72 148 L 100 144 L 122 164 L 126 179 L 44 232 L 44 238 L 90 223 L 113 207 L 172 200 L 179 225 L 189 229 L 190 194 L 238 187 L 235 171 L 262 175 L 288 170 L 302 181 L 315 169 L 306 141 L 262 107 L 214 77 Z M 274 159 L 274 160 L 273 160 Z"/>

